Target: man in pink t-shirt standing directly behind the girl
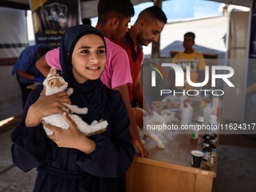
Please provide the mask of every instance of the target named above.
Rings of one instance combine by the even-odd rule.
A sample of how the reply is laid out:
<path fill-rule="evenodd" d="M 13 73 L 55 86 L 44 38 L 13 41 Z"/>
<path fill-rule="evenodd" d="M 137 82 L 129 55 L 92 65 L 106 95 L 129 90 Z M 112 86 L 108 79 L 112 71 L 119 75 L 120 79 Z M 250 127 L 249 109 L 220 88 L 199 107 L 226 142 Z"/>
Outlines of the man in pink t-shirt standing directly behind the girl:
<path fill-rule="evenodd" d="M 132 5 L 132 7 L 130 5 Z M 99 0 L 99 19 L 96 29 L 99 29 L 105 36 L 107 46 L 107 62 L 100 79 L 108 88 L 118 90 L 121 93 L 130 117 L 130 131 L 133 136 L 133 143 L 142 153 L 142 157 L 149 157 L 148 152 L 145 150 L 140 140 L 136 118 L 128 96 L 127 86 L 132 84 L 133 80 L 130 75 L 127 53 L 122 47 L 109 40 L 117 40 L 128 32 L 128 23 L 133 14 L 133 4 L 130 0 Z M 56 67 L 56 69 L 61 69 L 59 65 L 59 49 L 54 49 L 41 57 L 36 66 L 44 76 L 47 76 L 51 66 Z"/>

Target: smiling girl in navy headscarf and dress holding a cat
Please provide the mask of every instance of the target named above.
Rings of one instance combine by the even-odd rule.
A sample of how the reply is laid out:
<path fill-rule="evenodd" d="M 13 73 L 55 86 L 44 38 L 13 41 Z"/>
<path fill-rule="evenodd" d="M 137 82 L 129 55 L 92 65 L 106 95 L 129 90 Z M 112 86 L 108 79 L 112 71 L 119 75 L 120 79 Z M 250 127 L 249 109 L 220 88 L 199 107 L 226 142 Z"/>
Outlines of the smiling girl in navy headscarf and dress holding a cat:
<path fill-rule="evenodd" d="M 92 26 L 73 26 L 60 44 L 63 77 L 74 89 L 45 96 L 43 86 L 29 96 L 19 126 L 11 135 L 14 163 L 24 172 L 35 167 L 34 191 L 116 191 L 117 177 L 133 162 L 134 148 L 130 120 L 120 93 L 99 80 L 105 67 L 105 40 Z M 88 108 L 81 115 L 87 123 L 107 120 L 105 132 L 86 137 L 67 115 L 67 102 Z M 53 135 L 44 133 L 41 118 L 63 114 L 70 129 L 62 130 L 44 122 Z"/>

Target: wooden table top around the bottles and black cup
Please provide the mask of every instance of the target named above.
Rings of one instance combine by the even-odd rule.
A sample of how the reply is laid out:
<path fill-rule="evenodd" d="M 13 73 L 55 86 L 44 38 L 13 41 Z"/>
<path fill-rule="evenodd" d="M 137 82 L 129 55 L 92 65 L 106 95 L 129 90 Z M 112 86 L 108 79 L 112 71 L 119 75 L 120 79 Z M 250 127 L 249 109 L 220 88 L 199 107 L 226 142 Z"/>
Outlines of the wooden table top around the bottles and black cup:
<path fill-rule="evenodd" d="M 203 109 L 200 108 L 200 98 L 191 101 L 194 107 L 194 119 L 201 119 L 198 117 L 203 116 Z M 194 121 L 193 124 L 202 124 L 201 122 Z M 180 122 L 173 123 L 180 126 Z M 182 169 L 188 172 L 196 172 L 202 175 L 209 175 L 216 177 L 217 163 L 215 167 L 207 165 L 206 160 L 202 160 L 200 168 L 191 166 L 191 151 L 203 151 L 203 135 L 207 131 L 200 130 L 197 139 L 191 138 L 191 130 L 178 131 L 178 130 L 165 130 L 163 133 L 156 132 L 157 137 L 163 142 L 165 148 L 157 148 L 157 145 L 148 136 L 144 136 L 145 149 L 150 153 L 150 157 L 143 159 L 139 151 L 136 151 L 135 160 L 141 163 L 163 163 L 165 166 L 174 166 L 176 169 Z M 216 144 L 216 153 L 218 159 L 218 143 Z M 160 165 L 160 164 L 159 164 Z"/>

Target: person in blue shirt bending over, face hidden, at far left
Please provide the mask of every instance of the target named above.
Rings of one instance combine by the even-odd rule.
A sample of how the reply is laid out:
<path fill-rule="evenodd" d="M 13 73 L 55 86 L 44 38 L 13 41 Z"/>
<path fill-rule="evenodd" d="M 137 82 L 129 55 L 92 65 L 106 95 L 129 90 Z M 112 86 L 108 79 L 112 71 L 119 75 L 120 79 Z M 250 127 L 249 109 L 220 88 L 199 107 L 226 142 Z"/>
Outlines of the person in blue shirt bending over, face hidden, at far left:
<path fill-rule="evenodd" d="M 34 82 L 42 83 L 44 81 L 44 75 L 38 71 L 35 67 L 35 63 L 41 56 L 44 56 L 47 51 L 52 49 L 53 47 L 50 47 L 48 44 L 35 44 L 26 47 L 15 62 L 11 75 L 17 74 L 17 81 L 19 82 L 22 94 L 23 108 L 31 92 L 31 90 L 26 87 L 34 84 Z"/>

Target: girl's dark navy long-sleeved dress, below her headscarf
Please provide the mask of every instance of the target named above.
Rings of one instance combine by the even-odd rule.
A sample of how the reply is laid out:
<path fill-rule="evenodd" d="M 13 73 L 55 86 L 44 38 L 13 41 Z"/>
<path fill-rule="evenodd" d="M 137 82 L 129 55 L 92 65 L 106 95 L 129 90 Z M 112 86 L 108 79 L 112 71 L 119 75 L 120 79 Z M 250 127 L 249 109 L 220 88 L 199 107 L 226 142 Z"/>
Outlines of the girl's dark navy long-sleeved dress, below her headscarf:
<path fill-rule="evenodd" d="M 107 90 L 102 118 L 108 121 L 108 128 L 89 137 L 96 142 L 96 149 L 84 154 L 73 148 L 59 148 L 47 138 L 42 124 L 25 126 L 26 112 L 42 88 L 37 87 L 29 95 L 20 125 L 11 135 L 15 165 L 24 172 L 38 167 L 34 191 L 117 191 L 117 178 L 129 169 L 135 154 L 130 119 L 120 93 Z"/>

